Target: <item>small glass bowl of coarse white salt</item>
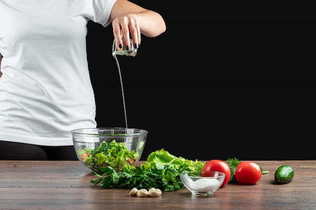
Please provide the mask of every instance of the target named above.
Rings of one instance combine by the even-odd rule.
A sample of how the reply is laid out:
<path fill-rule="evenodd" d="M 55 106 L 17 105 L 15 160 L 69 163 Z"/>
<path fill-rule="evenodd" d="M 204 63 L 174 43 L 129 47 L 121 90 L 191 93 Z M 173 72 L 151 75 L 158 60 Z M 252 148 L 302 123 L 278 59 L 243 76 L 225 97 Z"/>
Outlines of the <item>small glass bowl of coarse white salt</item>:
<path fill-rule="evenodd" d="M 224 182 L 225 173 L 218 171 L 182 172 L 184 186 L 195 196 L 211 196 Z"/>

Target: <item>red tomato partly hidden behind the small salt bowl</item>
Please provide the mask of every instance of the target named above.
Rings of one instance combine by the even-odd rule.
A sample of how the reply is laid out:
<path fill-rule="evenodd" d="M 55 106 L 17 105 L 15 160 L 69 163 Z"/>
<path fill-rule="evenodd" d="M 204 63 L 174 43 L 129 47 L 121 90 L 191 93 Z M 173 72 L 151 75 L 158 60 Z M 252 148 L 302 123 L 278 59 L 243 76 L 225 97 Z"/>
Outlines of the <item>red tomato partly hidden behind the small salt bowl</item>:
<path fill-rule="evenodd" d="M 230 180 L 231 171 L 228 166 L 228 164 L 225 161 L 221 160 L 210 160 L 207 163 L 205 163 L 202 172 L 207 171 L 218 171 L 225 174 L 225 179 L 221 187 L 224 187 Z M 207 176 L 206 173 L 202 173 L 203 176 Z"/>

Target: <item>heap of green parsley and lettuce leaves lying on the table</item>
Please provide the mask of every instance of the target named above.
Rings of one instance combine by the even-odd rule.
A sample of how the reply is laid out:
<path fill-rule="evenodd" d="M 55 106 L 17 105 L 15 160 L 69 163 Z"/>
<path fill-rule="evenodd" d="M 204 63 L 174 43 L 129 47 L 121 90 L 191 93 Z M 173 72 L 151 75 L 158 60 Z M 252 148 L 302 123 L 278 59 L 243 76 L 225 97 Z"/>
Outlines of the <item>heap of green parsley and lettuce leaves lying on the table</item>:
<path fill-rule="evenodd" d="M 171 155 L 164 149 L 152 152 L 145 163 L 140 166 L 125 164 L 121 171 L 112 167 L 100 167 L 103 172 L 99 175 L 94 172 L 96 179 L 90 182 L 100 183 L 102 188 L 158 188 L 164 191 L 177 191 L 185 188 L 180 173 L 183 171 L 201 171 L 205 162 L 187 160 Z"/>

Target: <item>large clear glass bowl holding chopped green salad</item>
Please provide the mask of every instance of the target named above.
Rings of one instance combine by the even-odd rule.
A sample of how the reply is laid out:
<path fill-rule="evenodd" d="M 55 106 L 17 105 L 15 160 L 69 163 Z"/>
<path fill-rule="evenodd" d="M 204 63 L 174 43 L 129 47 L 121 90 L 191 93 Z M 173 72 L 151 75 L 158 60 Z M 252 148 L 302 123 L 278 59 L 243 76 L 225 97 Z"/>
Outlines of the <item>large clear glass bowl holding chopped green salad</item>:
<path fill-rule="evenodd" d="M 120 171 L 125 164 L 139 161 L 147 138 L 147 130 L 103 127 L 71 131 L 79 161 L 94 172 L 110 166 Z"/>

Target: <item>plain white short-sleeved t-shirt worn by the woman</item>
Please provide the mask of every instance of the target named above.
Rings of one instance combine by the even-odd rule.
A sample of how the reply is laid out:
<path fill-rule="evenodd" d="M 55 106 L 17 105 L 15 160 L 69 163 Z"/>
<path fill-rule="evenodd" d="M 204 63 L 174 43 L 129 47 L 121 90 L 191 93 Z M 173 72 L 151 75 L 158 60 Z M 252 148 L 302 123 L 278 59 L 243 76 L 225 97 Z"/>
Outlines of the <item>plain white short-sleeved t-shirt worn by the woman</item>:
<path fill-rule="evenodd" d="M 0 0 L 0 140 L 73 145 L 96 127 L 87 22 L 104 27 L 116 0 Z"/>

